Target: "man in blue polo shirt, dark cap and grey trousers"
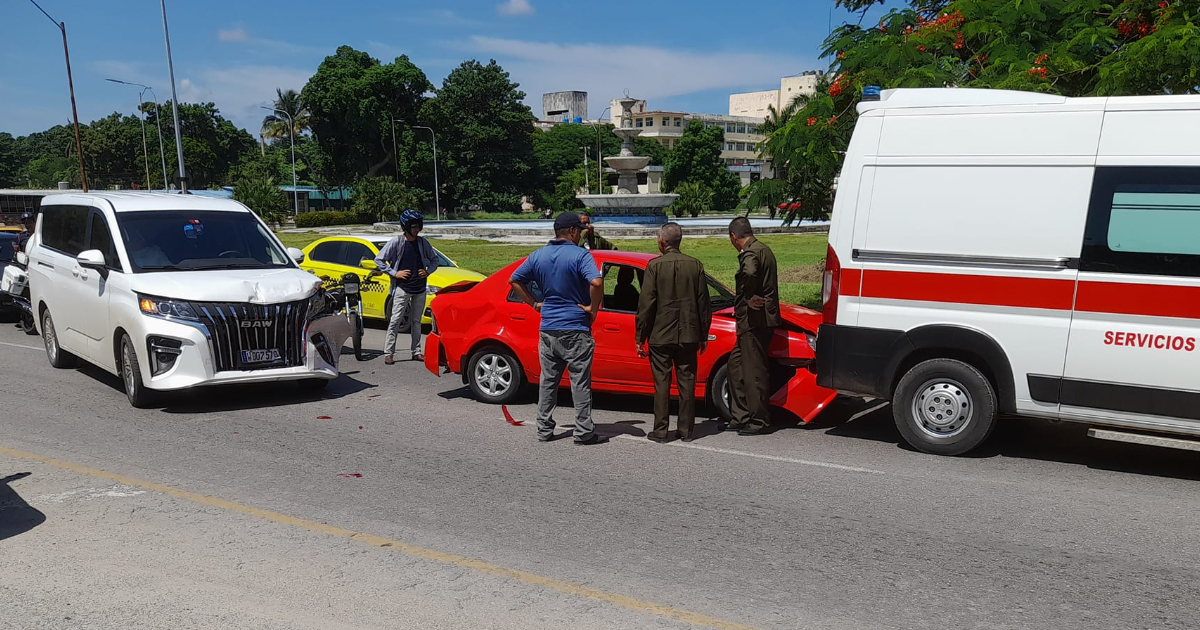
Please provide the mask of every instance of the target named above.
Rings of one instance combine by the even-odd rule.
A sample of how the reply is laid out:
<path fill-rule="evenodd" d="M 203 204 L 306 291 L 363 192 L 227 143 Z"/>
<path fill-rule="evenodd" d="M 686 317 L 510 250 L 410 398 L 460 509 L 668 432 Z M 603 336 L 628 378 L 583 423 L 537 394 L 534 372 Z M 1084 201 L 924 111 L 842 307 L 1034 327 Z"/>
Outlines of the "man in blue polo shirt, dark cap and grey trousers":
<path fill-rule="evenodd" d="M 604 278 L 592 253 L 580 247 L 583 236 L 580 215 L 563 212 L 554 220 L 554 240 L 529 254 L 509 283 L 522 301 L 541 313 L 541 386 L 538 392 L 538 439 L 554 437 L 554 407 L 558 384 L 565 368 L 571 376 L 575 401 L 575 443 L 601 444 L 608 438 L 595 433 L 592 421 L 592 323 L 604 299 Z M 536 283 L 542 301 L 529 284 Z"/>

